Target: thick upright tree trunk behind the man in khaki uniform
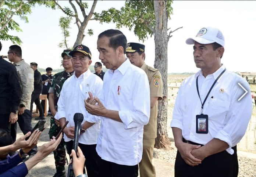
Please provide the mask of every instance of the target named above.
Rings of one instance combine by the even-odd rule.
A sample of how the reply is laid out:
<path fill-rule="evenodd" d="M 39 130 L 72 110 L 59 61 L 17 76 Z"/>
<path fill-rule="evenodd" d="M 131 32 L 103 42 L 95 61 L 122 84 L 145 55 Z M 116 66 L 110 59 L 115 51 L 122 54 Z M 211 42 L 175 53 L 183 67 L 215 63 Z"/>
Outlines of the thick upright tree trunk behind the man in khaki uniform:
<path fill-rule="evenodd" d="M 157 113 L 157 137 L 155 148 L 169 148 L 170 140 L 167 133 L 167 108 L 168 108 L 168 89 L 167 89 L 167 7 L 166 1 L 154 1 L 154 13 L 156 17 L 156 28 L 154 33 L 155 43 L 155 62 L 154 68 L 159 69 L 163 79 L 163 100 L 158 101 Z"/>

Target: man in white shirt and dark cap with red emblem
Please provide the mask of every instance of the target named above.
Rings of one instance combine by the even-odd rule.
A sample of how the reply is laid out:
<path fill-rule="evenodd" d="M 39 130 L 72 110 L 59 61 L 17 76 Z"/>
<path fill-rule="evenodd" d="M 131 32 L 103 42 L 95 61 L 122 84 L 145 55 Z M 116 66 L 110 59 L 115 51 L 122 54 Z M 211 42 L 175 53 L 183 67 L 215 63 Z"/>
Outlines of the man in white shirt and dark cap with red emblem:
<path fill-rule="evenodd" d="M 61 127 L 67 120 L 69 121 L 63 132 L 67 152 L 71 154 L 75 125 L 74 114 L 83 114 L 79 147 L 86 158 L 85 167 L 88 177 L 97 177 L 99 175 L 99 156 L 95 148 L 99 134 L 100 119 L 88 114 L 85 110 L 84 100 L 89 97 L 89 91 L 93 95 L 99 96 L 103 82 L 100 77 L 90 72 L 89 65 L 92 63 L 92 54 L 88 47 L 83 45 L 76 46 L 69 55 L 72 56 L 72 67 L 75 72 L 63 84 L 57 104 L 58 112 L 54 118 L 60 121 Z"/>

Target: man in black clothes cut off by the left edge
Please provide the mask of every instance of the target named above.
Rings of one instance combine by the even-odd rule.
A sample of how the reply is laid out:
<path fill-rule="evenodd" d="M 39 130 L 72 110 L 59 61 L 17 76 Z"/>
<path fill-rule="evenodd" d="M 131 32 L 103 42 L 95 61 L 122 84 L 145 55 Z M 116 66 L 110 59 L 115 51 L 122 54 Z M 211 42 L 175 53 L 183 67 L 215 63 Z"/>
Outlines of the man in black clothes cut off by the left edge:
<path fill-rule="evenodd" d="M 0 42 L 0 51 L 2 44 Z M 0 56 L 0 129 L 10 134 L 11 124 L 18 120 L 21 87 L 14 65 Z"/>

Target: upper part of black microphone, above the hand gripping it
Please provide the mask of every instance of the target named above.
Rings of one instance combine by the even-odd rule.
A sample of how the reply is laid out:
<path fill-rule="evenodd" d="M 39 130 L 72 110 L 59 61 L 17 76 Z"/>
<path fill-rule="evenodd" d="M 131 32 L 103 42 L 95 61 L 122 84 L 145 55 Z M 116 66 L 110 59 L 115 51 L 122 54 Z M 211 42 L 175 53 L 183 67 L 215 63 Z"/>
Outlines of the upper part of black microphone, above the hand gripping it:
<path fill-rule="evenodd" d="M 74 141 L 73 149 L 75 150 L 75 153 L 77 153 L 80 126 L 81 126 L 82 122 L 83 122 L 83 114 L 82 113 L 75 113 L 75 115 L 74 115 L 75 133 L 74 133 L 74 140 L 73 140 Z"/>

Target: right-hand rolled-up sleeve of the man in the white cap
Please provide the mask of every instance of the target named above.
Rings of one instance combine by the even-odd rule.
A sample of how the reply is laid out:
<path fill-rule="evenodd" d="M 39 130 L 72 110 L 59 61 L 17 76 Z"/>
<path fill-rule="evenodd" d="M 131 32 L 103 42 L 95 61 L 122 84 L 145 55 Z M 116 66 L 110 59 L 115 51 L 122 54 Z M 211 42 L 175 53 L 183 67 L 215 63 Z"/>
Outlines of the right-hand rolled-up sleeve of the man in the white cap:
<path fill-rule="evenodd" d="M 214 138 L 218 138 L 227 142 L 229 148 L 226 149 L 231 155 L 234 147 L 245 135 L 248 127 L 251 115 L 252 115 L 252 97 L 250 93 L 250 86 L 247 82 L 240 82 L 248 93 L 240 100 L 238 99 L 243 95 L 244 90 L 236 83 L 234 85 L 234 93 L 232 95 L 232 101 L 225 119 L 225 126 L 222 130 L 219 130 Z M 235 127 L 235 129 L 234 129 Z"/>

